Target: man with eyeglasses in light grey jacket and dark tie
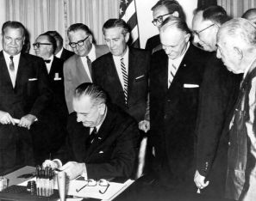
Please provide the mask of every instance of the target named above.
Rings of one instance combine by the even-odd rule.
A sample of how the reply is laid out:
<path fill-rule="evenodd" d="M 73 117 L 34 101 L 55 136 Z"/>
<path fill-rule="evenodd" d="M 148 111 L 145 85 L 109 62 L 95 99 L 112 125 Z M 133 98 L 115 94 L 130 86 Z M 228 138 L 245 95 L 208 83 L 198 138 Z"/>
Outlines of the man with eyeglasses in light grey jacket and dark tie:
<path fill-rule="evenodd" d="M 109 52 L 107 46 L 93 44 L 93 36 L 89 27 L 82 23 L 72 24 L 67 30 L 69 45 L 73 55 L 64 63 L 64 84 L 66 105 L 68 112 L 72 113 L 72 94 L 74 89 L 83 82 L 92 82 L 91 63 Z"/>

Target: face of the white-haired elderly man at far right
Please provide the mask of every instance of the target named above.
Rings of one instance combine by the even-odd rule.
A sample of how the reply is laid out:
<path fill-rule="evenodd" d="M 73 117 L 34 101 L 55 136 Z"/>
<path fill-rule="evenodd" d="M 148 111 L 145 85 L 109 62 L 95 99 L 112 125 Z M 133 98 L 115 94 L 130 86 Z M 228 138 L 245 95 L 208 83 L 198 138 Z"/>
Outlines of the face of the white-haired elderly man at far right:
<path fill-rule="evenodd" d="M 234 74 L 243 73 L 240 68 L 240 54 L 233 46 L 234 41 L 222 35 L 217 40 L 217 58 L 222 58 L 223 64 Z"/>

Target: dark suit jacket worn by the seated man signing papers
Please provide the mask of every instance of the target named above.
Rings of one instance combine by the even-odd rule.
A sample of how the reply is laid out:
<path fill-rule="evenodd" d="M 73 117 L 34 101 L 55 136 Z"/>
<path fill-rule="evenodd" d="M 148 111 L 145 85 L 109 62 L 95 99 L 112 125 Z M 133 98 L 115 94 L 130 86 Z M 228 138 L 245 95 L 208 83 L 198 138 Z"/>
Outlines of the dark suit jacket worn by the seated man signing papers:
<path fill-rule="evenodd" d="M 85 142 L 90 136 L 90 128 L 77 122 L 76 113 L 70 114 L 67 129 L 66 160 L 85 162 L 89 179 L 131 176 L 139 146 L 139 130 L 127 113 L 108 105 L 106 118 L 89 148 Z"/>

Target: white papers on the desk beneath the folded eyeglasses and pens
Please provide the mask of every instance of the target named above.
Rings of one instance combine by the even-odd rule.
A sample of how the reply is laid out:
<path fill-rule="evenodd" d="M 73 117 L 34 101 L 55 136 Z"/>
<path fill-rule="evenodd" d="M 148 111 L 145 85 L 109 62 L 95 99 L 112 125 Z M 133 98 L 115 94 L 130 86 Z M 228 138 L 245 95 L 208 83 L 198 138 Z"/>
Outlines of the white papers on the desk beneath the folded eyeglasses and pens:
<path fill-rule="evenodd" d="M 31 179 L 35 180 L 35 178 Z M 19 186 L 27 186 L 28 180 L 19 184 Z M 68 184 L 67 195 L 78 198 L 97 198 L 103 201 L 110 201 L 121 194 L 128 186 L 132 185 L 134 180 L 126 180 L 123 183 L 109 182 L 109 187 L 106 192 L 106 186 L 85 186 L 80 192 L 77 189 L 82 188 L 86 182 L 84 180 L 71 180 Z M 54 184 L 54 189 L 58 189 L 57 182 Z M 101 193 L 100 191 L 104 192 Z"/>

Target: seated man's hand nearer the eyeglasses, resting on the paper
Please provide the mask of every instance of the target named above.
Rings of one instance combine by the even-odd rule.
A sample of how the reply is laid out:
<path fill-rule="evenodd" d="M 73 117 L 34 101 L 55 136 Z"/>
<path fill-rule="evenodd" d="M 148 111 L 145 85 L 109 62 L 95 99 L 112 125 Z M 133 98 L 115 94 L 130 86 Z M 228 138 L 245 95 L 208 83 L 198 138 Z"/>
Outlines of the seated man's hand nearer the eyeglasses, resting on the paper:
<path fill-rule="evenodd" d="M 77 178 L 79 175 L 83 174 L 84 163 L 78 163 L 76 161 L 69 161 L 64 166 L 59 168 L 66 172 L 69 180 Z"/>

